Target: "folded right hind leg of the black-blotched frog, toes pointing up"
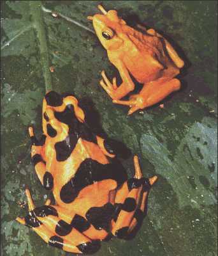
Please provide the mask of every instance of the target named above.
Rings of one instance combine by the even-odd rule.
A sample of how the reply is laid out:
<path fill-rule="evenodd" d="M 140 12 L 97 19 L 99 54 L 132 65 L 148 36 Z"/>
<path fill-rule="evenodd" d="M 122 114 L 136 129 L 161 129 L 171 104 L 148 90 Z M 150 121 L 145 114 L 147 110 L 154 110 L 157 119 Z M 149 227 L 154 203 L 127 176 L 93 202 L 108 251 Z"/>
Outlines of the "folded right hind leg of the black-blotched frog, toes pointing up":
<path fill-rule="evenodd" d="M 117 191 L 115 197 L 115 217 L 112 222 L 112 234 L 127 238 L 138 225 L 141 225 L 147 209 L 147 197 L 157 176 L 150 179 L 142 177 L 138 157 L 134 156 L 134 178 L 127 180 Z"/>

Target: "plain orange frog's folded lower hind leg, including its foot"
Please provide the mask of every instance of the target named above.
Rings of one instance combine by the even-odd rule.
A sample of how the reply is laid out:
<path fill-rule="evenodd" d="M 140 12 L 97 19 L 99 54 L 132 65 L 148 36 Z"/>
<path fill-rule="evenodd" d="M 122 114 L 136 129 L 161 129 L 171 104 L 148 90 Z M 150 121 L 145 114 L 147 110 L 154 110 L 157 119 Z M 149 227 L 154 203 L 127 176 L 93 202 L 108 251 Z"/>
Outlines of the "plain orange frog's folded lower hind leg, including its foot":
<path fill-rule="evenodd" d="M 176 78 L 162 77 L 157 81 L 145 84 L 139 94 L 132 95 L 129 100 L 113 100 L 113 103 L 130 106 L 128 115 L 138 109 L 148 108 L 166 98 L 170 93 L 180 89 L 180 81 Z"/>

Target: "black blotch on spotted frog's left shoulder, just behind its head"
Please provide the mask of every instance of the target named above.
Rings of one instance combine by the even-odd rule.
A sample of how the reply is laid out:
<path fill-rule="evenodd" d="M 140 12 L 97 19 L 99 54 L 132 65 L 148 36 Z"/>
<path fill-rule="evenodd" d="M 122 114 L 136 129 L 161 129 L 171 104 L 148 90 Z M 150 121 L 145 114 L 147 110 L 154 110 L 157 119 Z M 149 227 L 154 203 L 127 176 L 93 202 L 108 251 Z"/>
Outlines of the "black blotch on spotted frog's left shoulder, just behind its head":
<path fill-rule="evenodd" d="M 55 143 L 57 161 L 65 161 L 73 152 L 78 138 L 75 135 L 69 135 L 65 140 Z"/>

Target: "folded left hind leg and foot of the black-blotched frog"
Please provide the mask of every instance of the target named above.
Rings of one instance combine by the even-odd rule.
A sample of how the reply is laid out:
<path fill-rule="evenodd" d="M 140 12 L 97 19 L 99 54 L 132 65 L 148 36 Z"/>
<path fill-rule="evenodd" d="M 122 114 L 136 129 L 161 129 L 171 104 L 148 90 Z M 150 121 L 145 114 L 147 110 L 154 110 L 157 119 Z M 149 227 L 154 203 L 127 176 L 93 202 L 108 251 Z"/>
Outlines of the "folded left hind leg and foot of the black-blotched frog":
<path fill-rule="evenodd" d="M 92 254 L 98 251 L 99 240 L 89 239 L 71 224 L 61 220 L 59 212 L 54 206 L 48 205 L 48 201 L 47 205 L 35 208 L 28 189 L 25 189 L 25 194 L 29 212 L 25 218 L 16 219 L 19 223 L 33 228 L 46 243 L 66 252 Z"/>

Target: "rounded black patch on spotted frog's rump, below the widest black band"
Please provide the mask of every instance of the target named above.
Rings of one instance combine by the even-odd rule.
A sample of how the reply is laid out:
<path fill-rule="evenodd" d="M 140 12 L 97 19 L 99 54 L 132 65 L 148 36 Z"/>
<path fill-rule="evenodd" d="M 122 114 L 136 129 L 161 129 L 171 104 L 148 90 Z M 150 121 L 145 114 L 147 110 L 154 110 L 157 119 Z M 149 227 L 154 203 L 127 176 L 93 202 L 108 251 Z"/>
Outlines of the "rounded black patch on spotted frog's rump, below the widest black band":
<path fill-rule="evenodd" d="M 114 210 L 114 206 L 110 203 L 102 207 L 91 207 L 85 217 L 96 229 L 104 229 L 109 232 Z"/>

